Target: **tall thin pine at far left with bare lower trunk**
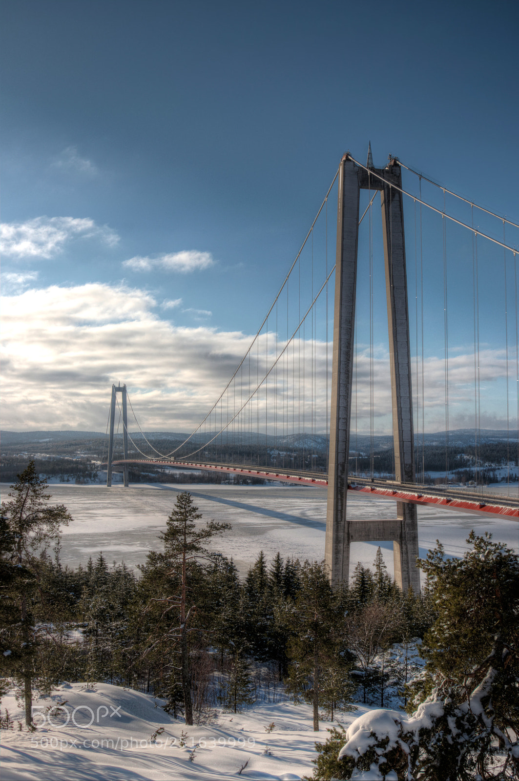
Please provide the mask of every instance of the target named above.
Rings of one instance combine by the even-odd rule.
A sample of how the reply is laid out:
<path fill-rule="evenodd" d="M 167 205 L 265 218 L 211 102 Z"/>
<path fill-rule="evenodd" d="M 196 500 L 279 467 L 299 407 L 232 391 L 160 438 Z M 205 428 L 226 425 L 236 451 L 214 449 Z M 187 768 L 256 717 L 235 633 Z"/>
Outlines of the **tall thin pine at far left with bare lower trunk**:
<path fill-rule="evenodd" d="M 38 569 L 38 550 L 58 540 L 60 526 L 67 526 L 72 520 L 63 505 L 48 505 L 50 494 L 46 494 L 47 481 L 40 480 L 34 469 L 34 461 L 29 462 L 17 476 L 16 483 L 11 486 L 8 496 L 10 501 L 2 502 L 1 512 L 9 523 L 9 529 L 16 540 L 16 564 L 35 573 Z M 20 619 L 24 647 L 34 643 L 34 627 L 30 624 L 30 609 L 27 593 L 23 590 L 18 595 Z M 25 657 L 25 663 L 20 669 L 23 681 L 23 697 L 25 704 L 25 723 L 32 729 L 32 680 L 34 670 Z"/>

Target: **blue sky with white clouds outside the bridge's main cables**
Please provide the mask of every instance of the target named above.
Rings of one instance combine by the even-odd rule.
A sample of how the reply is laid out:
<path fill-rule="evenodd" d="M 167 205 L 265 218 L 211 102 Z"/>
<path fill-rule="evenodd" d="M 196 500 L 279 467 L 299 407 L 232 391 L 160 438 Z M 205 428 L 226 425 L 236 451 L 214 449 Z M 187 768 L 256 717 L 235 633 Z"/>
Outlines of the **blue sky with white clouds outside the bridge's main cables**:
<path fill-rule="evenodd" d="M 346 149 L 364 162 L 370 140 L 375 165 L 399 155 L 519 221 L 518 23 L 517 2 L 4 0 L 2 427 L 102 429 L 113 380 L 146 428 L 196 423 Z M 502 293 L 481 304 L 494 353 Z"/>

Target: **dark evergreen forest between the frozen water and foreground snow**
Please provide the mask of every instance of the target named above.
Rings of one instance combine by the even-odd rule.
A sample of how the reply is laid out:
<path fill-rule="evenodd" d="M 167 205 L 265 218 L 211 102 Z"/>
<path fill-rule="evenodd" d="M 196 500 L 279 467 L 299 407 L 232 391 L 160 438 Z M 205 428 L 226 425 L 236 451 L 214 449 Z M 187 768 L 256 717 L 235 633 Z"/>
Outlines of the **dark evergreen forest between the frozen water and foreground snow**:
<path fill-rule="evenodd" d="M 380 548 L 373 569 L 357 565 L 340 587 L 324 562 L 283 551 L 260 553 L 241 580 L 206 547 L 221 537 L 224 549 L 229 525 L 202 519 L 184 492 L 137 572 L 102 553 L 71 569 L 59 528 L 72 519 L 46 490 L 31 462 L 0 521 L 2 692 L 14 686 L 24 703 L 20 729 L 33 729 L 34 697 L 63 680 L 153 694 L 187 725 L 290 698 L 310 704 L 316 731 L 334 722 L 316 744 L 315 779 L 349 779 L 374 762 L 388 779 L 517 777 L 519 562 L 490 535 L 471 534 L 461 559 L 438 543 L 419 562 L 421 594 L 399 590 Z M 415 721 L 442 707 L 413 736 L 399 722 L 396 743 L 368 730 L 361 751 L 341 726 L 356 702 Z M 13 728 L 5 711 L 2 726 Z"/>

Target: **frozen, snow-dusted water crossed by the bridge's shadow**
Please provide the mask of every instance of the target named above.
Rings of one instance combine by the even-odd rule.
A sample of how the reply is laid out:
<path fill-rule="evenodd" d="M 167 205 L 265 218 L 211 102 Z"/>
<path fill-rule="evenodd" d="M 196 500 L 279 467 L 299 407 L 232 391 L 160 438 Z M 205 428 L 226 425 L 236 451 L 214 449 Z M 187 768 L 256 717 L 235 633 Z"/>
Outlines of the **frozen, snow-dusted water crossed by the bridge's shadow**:
<path fill-rule="evenodd" d="M 304 560 L 324 558 L 326 525 L 326 489 L 301 486 L 192 485 L 190 493 L 202 512 L 202 522 L 226 521 L 232 530 L 213 541 L 212 547 L 234 558 L 242 574 L 256 560 L 259 551 L 267 559 L 277 551 L 284 558 Z M 2 501 L 9 487 L 2 484 Z M 181 485 L 135 484 L 129 488 L 100 485 L 52 484 L 48 491 L 52 503 L 66 505 L 74 521 L 63 529 L 62 562 L 77 566 L 102 551 L 106 560 L 124 561 L 134 567 L 144 562 L 150 549 L 159 549 L 159 533 L 165 529 Z M 392 501 L 348 496 L 348 515 L 352 519 L 391 518 L 396 513 Z M 519 524 L 515 519 L 497 515 L 474 514 L 455 510 L 418 507 L 420 555 L 425 556 L 435 540 L 442 541 L 449 555 L 461 555 L 471 529 L 485 531 L 518 548 Z M 392 543 L 380 542 L 388 572 L 393 569 Z M 356 562 L 371 565 L 378 543 L 352 546 L 350 571 Z M 50 551 L 49 551 L 50 552 Z"/>

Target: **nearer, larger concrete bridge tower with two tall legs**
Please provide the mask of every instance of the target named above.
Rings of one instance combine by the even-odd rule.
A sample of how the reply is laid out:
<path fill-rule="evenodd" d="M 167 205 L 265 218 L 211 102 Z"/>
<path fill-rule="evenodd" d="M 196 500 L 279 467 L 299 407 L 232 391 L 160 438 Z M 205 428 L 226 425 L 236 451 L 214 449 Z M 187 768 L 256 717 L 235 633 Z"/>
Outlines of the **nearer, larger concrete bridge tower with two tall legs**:
<path fill-rule="evenodd" d="M 373 176 L 371 172 L 378 176 Z M 331 582 L 340 583 L 349 578 L 351 543 L 392 540 L 396 583 L 403 590 L 411 586 L 414 591 L 419 591 L 416 505 L 397 502 L 396 519 L 346 519 L 361 189 L 381 191 L 396 480 L 415 482 L 403 195 L 397 187 L 402 189 L 402 170 L 398 160 L 390 159 L 384 169 L 374 168 L 370 149 L 367 169 L 364 169 L 357 166 L 347 153 L 342 158 L 338 184 L 325 559 Z"/>

